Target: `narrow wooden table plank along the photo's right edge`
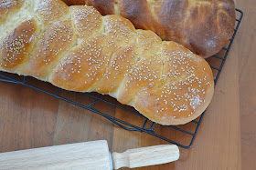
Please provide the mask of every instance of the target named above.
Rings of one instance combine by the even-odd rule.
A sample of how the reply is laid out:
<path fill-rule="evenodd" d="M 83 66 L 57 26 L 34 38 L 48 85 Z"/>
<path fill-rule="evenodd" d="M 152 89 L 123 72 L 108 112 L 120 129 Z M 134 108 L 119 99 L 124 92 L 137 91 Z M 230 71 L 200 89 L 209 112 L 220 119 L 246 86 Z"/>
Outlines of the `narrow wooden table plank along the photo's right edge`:
<path fill-rule="evenodd" d="M 240 122 L 242 169 L 255 169 L 256 155 L 256 1 L 237 0 L 237 6 L 244 12 L 239 43 L 240 63 Z"/>

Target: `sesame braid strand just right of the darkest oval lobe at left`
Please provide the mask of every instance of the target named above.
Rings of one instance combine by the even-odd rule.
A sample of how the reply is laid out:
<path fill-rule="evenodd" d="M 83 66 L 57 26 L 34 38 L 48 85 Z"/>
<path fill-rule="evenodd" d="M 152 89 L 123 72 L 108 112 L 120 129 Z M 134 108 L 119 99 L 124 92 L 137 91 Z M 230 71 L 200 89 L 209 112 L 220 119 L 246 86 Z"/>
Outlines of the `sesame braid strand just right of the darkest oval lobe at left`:
<path fill-rule="evenodd" d="M 48 74 L 56 66 L 60 56 L 67 52 L 75 42 L 72 22 L 53 23 L 37 39 L 40 41 L 36 44 L 33 53 L 30 54 L 27 65 L 24 65 L 23 70 L 20 71 L 25 75 L 33 75 L 47 80 Z"/>

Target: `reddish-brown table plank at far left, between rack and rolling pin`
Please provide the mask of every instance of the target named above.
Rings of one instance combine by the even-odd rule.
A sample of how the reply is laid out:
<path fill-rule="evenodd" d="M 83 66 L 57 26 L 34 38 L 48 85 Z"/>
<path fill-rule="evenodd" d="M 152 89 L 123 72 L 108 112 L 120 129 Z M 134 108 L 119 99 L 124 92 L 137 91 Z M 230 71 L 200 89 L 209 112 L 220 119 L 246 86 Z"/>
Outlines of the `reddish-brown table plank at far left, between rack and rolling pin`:
<path fill-rule="evenodd" d="M 1 152 L 52 145 L 59 100 L 6 83 L 0 92 Z"/>

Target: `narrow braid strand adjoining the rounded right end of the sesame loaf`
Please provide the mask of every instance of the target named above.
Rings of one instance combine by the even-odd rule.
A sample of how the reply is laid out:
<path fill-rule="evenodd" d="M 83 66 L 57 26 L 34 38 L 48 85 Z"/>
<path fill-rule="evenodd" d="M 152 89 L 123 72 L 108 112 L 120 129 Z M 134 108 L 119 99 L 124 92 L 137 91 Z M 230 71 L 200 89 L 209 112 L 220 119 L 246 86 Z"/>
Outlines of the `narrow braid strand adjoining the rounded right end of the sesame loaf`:
<path fill-rule="evenodd" d="M 123 88 L 117 96 L 123 104 L 133 103 L 135 95 L 145 87 L 159 85 L 162 74 L 162 40 L 151 31 L 136 31 L 135 64 L 123 80 Z M 156 80 L 155 80 L 156 79 Z M 155 80 L 153 83 L 152 80 Z"/>

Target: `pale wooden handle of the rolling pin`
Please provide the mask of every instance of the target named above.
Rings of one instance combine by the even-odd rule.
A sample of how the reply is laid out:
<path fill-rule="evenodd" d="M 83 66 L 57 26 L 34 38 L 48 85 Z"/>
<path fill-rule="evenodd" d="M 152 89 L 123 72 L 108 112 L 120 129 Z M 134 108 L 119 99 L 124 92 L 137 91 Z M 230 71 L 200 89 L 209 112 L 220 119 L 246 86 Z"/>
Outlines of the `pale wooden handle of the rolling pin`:
<path fill-rule="evenodd" d="M 112 153 L 113 168 L 161 165 L 176 161 L 179 149 L 176 145 L 155 145 L 130 149 L 124 153 Z"/>

